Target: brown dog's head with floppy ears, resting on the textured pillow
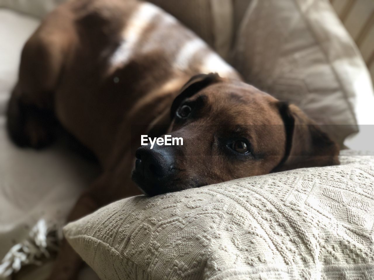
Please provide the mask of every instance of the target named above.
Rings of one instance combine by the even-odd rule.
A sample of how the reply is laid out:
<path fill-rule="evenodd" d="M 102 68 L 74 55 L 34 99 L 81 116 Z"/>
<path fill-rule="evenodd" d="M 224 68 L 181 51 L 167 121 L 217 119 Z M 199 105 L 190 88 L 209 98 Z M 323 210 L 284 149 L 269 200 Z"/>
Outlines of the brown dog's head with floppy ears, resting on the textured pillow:
<path fill-rule="evenodd" d="M 339 163 L 337 144 L 296 106 L 217 74 L 191 78 L 171 118 L 167 134 L 183 146 L 137 150 L 132 178 L 148 195 Z"/>

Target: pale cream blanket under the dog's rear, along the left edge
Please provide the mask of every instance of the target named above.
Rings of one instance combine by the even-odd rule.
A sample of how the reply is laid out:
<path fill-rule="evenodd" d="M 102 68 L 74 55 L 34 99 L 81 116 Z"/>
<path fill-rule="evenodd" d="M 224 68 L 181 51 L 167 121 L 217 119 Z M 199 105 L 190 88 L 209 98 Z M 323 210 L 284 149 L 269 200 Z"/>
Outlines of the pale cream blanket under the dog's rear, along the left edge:
<path fill-rule="evenodd" d="M 97 175 L 94 165 L 61 144 L 43 151 L 18 149 L 7 137 L 7 100 L 16 83 L 22 47 L 38 25 L 39 20 L 0 9 L 0 261 L 14 245 L 26 244 L 28 250 L 39 242 L 42 248 L 46 241 L 43 230 L 61 227 L 79 194 Z M 41 219 L 46 221 L 46 227 L 38 224 Z M 26 255 L 15 258 L 15 249 L 20 248 L 13 247 L 8 259 L 18 268 L 17 262 Z M 28 254 L 24 261 L 32 259 Z M 13 270 L 11 265 L 2 266 L 0 262 L 0 274 L 2 268 Z M 51 263 L 28 270 L 21 280 L 43 280 L 50 268 Z M 85 279 L 95 278 L 86 271 Z"/>

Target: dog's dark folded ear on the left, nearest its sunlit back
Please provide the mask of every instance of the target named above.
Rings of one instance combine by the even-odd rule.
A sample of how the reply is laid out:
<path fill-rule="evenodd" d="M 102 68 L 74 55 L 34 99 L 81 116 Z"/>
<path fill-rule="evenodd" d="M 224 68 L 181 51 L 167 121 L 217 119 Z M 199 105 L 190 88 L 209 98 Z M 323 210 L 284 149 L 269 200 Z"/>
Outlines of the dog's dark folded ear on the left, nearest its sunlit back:
<path fill-rule="evenodd" d="M 198 74 L 193 76 L 182 87 L 178 96 L 175 97 L 174 102 L 171 105 L 171 118 L 174 118 L 175 112 L 177 111 L 183 100 L 193 96 L 208 85 L 218 83 L 219 81 L 221 81 L 221 77 L 217 73 Z"/>

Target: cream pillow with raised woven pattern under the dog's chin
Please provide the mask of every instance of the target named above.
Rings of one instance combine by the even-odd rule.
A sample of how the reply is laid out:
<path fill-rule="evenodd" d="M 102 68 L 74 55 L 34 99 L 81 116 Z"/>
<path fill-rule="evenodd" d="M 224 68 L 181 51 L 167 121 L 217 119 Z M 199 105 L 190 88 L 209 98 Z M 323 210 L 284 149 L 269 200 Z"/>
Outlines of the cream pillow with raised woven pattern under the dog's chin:
<path fill-rule="evenodd" d="M 101 279 L 373 279 L 374 156 L 156 197 L 65 226 Z"/>

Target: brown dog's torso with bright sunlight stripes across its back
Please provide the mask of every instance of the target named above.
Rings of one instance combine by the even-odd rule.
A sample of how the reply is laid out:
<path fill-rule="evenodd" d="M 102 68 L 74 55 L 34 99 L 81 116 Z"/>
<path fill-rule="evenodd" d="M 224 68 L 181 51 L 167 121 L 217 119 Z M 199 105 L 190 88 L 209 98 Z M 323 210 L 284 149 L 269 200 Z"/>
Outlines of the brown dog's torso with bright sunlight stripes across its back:
<path fill-rule="evenodd" d="M 33 73 L 44 65 L 48 73 L 34 74 L 43 76 L 40 81 Z M 200 38 L 153 4 L 80 0 L 51 13 L 27 42 L 19 86 L 23 95 L 24 88 L 30 91 L 27 101 L 34 105 L 48 100 L 40 108 L 53 111 L 105 168 L 120 130 L 129 137 L 131 126 L 150 124 L 168 111 L 193 75 L 209 72 L 239 78 Z M 133 135 L 137 144 L 139 133 L 146 131 Z"/>

